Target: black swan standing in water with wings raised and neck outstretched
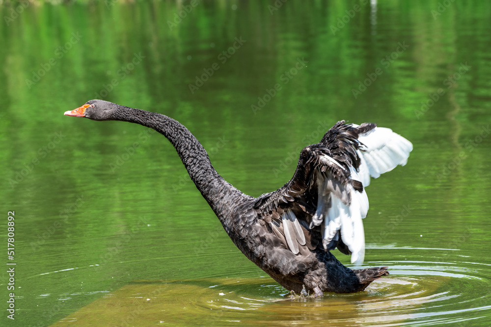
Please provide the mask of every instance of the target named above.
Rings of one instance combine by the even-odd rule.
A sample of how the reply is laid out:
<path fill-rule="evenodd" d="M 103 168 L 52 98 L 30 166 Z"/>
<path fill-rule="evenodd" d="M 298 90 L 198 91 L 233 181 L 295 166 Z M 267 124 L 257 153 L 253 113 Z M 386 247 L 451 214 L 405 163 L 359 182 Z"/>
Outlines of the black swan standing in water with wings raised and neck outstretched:
<path fill-rule="evenodd" d="M 351 254 L 352 263 L 363 262 L 364 187 L 370 177 L 405 165 L 412 151 L 408 140 L 388 128 L 336 123 L 320 143 L 300 152 L 288 183 L 253 198 L 218 175 L 203 146 L 172 118 L 102 100 L 65 115 L 136 123 L 163 134 L 237 248 L 290 291 L 314 297 L 358 292 L 389 274 L 387 267 L 352 270 L 330 252 L 338 248 Z"/>

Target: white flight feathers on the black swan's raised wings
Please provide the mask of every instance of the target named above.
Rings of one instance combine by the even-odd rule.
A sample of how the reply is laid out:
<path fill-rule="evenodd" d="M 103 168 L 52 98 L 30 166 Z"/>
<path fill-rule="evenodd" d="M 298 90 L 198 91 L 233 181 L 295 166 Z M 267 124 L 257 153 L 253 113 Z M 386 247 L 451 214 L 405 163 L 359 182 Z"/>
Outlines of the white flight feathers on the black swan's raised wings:
<path fill-rule="evenodd" d="M 331 151 L 341 151 L 340 154 L 334 151 L 332 157 L 329 154 L 320 156 L 321 163 L 331 170 L 319 169 L 316 174 L 319 189 L 311 227 L 323 227 L 325 250 L 341 244 L 343 252 L 351 252 L 351 262 L 361 264 L 365 255 L 362 219 L 367 216 L 369 208 L 364 186 L 370 184 L 370 177 L 377 178 L 397 165 L 406 164 L 412 144 L 389 128 L 375 127 L 374 124 L 353 126 L 362 131 L 357 137 L 359 143 L 354 140 L 349 146 L 339 141 L 337 150 L 327 144 Z M 335 167 L 328 163 L 334 163 L 343 170 L 343 164 L 348 164 L 349 178 L 337 174 L 332 170 Z"/>

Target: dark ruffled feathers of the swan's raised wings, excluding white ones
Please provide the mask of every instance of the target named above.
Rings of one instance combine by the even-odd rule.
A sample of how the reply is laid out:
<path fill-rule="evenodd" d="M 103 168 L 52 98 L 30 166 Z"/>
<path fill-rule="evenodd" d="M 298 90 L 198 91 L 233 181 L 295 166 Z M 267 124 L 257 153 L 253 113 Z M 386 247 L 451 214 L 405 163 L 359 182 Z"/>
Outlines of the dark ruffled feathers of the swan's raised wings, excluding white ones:
<path fill-rule="evenodd" d="M 366 133 L 375 127 L 376 125 L 371 123 L 364 123 L 358 127 L 344 124 L 344 121 L 336 123 L 326 132 L 320 143 L 305 147 L 300 152 L 297 169 L 288 183 L 275 192 L 263 194 L 256 200 L 254 209 L 259 219 L 271 224 L 273 233 L 285 248 L 299 253 L 307 249 L 323 247 L 324 226 L 316 226 L 319 224 L 312 222 L 318 198 L 316 172 L 328 178 L 328 189 L 331 192 L 336 193 L 343 202 L 349 202 L 346 184 L 351 184 L 356 191 L 363 190 L 361 182 L 350 178 L 350 167 L 358 169 L 360 165 L 357 153 L 360 145 L 358 134 Z M 339 166 L 326 160 L 325 156 L 335 159 Z M 295 229 L 294 224 L 289 224 L 286 228 L 283 226 L 281 216 L 288 210 L 291 210 L 299 220 L 300 225 L 297 225 L 297 228 L 300 227 L 300 230 Z M 299 235 L 300 231 L 304 235 L 304 244 L 302 244 L 303 238 Z M 296 243 L 289 247 L 289 242 Z M 340 235 L 329 244 L 329 250 L 336 246 L 341 252 L 351 254 Z"/>

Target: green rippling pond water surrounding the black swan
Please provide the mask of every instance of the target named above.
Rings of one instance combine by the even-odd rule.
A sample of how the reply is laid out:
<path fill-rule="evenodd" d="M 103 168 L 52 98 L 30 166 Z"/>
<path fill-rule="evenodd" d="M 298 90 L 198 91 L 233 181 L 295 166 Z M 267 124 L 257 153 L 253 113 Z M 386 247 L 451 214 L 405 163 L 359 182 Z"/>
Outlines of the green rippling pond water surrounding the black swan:
<path fill-rule="evenodd" d="M 0 6 L 2 326 L 489 326 L 491 3 L 193 3 Z M 94 98 L 178 120 L 252 196 L 338 120 L 394 129 L 414 151 L 364 221 L 391 275 L 285 301 L 164 137 L 63 116 Z"/>

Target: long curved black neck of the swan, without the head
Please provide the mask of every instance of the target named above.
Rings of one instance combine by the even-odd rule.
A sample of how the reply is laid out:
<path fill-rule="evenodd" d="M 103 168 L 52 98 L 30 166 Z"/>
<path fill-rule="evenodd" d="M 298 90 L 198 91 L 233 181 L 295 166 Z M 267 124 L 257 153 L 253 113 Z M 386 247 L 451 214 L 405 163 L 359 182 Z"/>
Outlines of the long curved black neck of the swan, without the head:
<path fill-rule="evenodd" d="M 172 143 L 179 153 L 191 180 L 220 219 L 222 225 L 230 221 L 230 215 L 238 205 L 250 199 L 218 175 L 208 153 L 178 121 L 159 113 L 119 106 L 112 120 L 136 123 L 155 129 Z"/>

